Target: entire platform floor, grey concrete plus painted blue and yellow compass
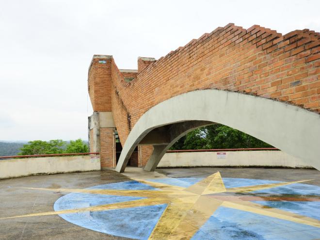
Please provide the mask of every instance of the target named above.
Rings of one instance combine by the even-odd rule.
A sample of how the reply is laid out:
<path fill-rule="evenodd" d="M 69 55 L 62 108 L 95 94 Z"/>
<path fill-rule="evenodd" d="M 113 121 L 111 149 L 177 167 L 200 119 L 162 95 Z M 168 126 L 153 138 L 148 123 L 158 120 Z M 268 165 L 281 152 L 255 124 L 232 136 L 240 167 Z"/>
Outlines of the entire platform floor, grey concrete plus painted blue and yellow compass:
<path fill-rule="evenodd" d="M 0 181 L 5 240 L 315 240 L 312 169 L 177 168 Z"/>

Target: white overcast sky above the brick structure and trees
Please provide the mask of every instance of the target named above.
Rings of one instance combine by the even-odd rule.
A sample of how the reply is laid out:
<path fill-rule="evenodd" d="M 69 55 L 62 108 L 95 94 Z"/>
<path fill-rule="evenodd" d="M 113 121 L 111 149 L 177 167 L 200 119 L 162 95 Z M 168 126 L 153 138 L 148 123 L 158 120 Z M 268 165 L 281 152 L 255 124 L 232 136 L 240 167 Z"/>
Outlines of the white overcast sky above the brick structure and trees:
<path fill-rule="evenodd" d="M 320 31 L 319 0 L 0 0 L 0 140 L 87 140 L 94 54 L 137 69 L 229 22 Z"/>

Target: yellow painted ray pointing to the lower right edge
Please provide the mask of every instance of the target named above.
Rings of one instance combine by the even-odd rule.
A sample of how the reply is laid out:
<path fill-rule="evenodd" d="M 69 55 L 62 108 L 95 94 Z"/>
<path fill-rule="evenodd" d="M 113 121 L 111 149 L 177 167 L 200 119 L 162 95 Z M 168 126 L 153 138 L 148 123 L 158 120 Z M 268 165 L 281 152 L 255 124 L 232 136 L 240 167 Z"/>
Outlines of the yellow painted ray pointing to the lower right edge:
<path fill-rule="evenodd" d="M 223 207 L 234 208 L 242 211 L 252 212 L 263 216 L 268 216 L 272 218 L 278 218 L 282 220 L 287 220 L 290 222 L 305 224 L 314 227 L 320 227 L 320 221 L 317 219 L 305 217 L 296 213 L 291 213 L 288 211 L 280 210 L 278 208 L 266 208 L 266 206 L 259 205 L 253 202 L 229 202 L 224 201 L 222 203 Z"/>

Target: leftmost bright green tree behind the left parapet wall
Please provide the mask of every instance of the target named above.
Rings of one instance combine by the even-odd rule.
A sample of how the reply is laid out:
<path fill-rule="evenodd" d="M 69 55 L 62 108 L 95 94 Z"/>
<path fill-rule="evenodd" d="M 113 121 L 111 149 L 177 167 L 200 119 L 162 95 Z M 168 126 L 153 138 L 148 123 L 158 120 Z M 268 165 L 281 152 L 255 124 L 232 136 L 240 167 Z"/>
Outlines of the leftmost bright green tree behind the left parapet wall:
<path fill-rule="evenodd" d="M 49 142 L 35 140 L 29 141 L 20 148 L 18 155 L 41 155 L 41 154 L 58 154 L 63 153 L 65 142 L 62 140 L 50 140 Z"/>

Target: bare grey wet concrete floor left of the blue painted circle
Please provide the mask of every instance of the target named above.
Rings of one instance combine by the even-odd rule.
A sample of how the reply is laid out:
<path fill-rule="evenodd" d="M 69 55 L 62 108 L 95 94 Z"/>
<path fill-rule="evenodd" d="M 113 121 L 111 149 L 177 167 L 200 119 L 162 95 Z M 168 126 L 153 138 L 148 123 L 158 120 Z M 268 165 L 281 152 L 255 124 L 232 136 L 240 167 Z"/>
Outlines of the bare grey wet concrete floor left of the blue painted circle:
<path fill-rule="evenodd" d="M 99 184 L 122 182 L 128 177 L 111 170 L 27 176 L 0 180 L 0 217 L 53 210 L 54 202 L 66 193 L 30 191 L 32 188 L 83 189 Z M 0 220 L 1 240 L 122 240 L 71 224 L 58 215 Z"/>

